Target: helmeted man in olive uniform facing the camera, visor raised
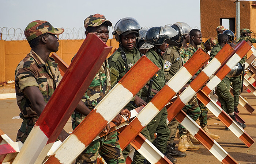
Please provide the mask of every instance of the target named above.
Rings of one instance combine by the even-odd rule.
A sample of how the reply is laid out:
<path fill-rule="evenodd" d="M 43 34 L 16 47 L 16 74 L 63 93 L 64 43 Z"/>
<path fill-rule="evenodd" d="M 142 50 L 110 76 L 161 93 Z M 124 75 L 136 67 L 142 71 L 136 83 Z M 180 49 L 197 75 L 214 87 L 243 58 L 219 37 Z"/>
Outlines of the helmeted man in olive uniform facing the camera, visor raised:
<path fill-rule="evenodd" d="M 108 58 L 111 72 L 111 88 L 114 87 L 141 58 L 140 51 L 136 48 L 140 29 L 139 22 L 132 17 L 120 19 L 114 26 L 112 34 L 115 36 L 117 42 L 119 42 L 119 48 Z M 147 103 L 140 98 L 141 93 L 142 91 L 140 90 L 125 108 L 132 110 L 135 109 L 135 106 L 147 105 Z M 125 159 L 128 156 L 129 147 L 130 145 L 123 151 Z M 133 159 L 134 158 L 136 157 L 133 157 Z"/>

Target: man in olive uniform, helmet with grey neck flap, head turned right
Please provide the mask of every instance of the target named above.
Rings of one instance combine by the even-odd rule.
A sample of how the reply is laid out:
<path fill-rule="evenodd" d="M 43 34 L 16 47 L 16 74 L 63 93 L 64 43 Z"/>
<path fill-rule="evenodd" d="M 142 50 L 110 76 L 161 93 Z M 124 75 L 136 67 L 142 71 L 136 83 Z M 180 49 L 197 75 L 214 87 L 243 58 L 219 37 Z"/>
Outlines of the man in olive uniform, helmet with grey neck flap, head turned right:
<path fill-rule="evenodd" d="M 164 62 L 162 58 L 162 53 L 167 48 L 167 40 L 170 40 L 173 36 L 176 36 L 177 32 L 170 26 L 160 26 L 160 27 L 152 27 L 148 29 L 146 36 L 145 36 L 145 43 L 140 47 L 142 50 L 148 50 L 146 56 L 150 59 L 156 66 L 161 68 L 155 76 L 152 77 L 152 89 L 151 94 L 157 94 L 159 90 L 165 86 L 165 74 L 163 67 L 169 67 L 171 63 Z M 182 63 L 182 62 L 181 62 Z M 149 82 L 148 82 L 149 85 Z M 146 90 L 145 93 L 143 92 L 143 97 L 147 96 Z M 159 149 L 166 157 L 172 161 L 172 163 L 177 163 L 177 160 L 174 159 L 170 154 L 166 154 L 166 145 L 167 140 L 170 136 L 170 130 L 166 124 L 167 119 L 167 109 L 164 107 L 155 118 L 147 125 L 146 128 L 142 130 L 142 134 L 145 137 L 148 137 L 146 132 L 149 132 L 150 141 L 153 142 L 155 147 Z M 176 122 L 175 122 L 176 123 Z M 157 133 L 157 138 L 155 138 L 155 133 Z M 143 158 L 142 158 L 143 159 Z M 141 160 L 142 163 L 143 160 Z M 137 159 L 133 157 L 133 163 L 137 162 Z"/>

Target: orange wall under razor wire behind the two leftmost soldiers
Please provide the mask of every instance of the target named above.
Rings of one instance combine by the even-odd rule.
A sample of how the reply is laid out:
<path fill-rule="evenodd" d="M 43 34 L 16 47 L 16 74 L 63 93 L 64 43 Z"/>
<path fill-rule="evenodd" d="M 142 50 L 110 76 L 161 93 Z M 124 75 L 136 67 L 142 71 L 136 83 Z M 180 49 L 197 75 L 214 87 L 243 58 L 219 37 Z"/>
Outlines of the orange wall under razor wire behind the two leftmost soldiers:
<path fill-rule="evenodd" d="M 59 40 L 59 43 L 59 51 L 56 54 L 69 65 L 83 40 Z M 116 39 L 109 39 L 107 45 L 113 47 L 112 51 L 114 48 L 118 48 Z M 0 82 L 14 80 L 17 65 L 30 52 L 30 49 L 27 40 L 0 40 Z"/>

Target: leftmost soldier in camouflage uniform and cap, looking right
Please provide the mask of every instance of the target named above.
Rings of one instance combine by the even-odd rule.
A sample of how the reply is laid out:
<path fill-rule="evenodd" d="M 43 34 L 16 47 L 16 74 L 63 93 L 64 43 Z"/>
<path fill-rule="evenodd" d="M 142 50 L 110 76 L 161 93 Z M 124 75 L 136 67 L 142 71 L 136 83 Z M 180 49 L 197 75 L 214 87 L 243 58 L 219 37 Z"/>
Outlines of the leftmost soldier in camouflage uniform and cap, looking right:
<path fill-rule="evenodd" d="M 63 28 L 54 28 L 44 20 L 29 23 L 24 31 L 31 50 L 15 70 L 17 104 L 21 112 L 20 118 L 23 119 L 16 141 L 25 142 L 61 81 L 59 67 L 49 55 L 59 50 L 59 39 L 56 35 L 63 31 Z M 82 101 L 76 110 L 84 115 L 90 113 Z M 62 130 L 58 138 L 64 141 L 67 136 L 68 133 Z"/>

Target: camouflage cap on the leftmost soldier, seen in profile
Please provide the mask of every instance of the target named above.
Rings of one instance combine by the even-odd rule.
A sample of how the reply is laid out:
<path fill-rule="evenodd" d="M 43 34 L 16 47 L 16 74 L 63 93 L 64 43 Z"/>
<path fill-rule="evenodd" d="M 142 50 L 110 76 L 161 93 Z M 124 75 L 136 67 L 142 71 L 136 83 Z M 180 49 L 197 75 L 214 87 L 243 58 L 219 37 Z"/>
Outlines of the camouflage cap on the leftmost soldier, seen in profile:
<path fill-rule="evenodd" d="M 64 32 L 64 29 L 54 28 L 49 22 L 45 20 L 35 20 L 27 25 L 24 34 L 27 38 L 27 41 L 30 41 L 34 38 L 37 38 L 37 36 L 45 34 L 46 32 L 54 35 L 60 35 Z"/>

